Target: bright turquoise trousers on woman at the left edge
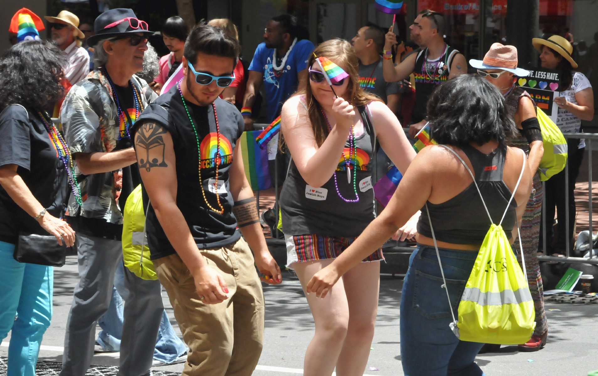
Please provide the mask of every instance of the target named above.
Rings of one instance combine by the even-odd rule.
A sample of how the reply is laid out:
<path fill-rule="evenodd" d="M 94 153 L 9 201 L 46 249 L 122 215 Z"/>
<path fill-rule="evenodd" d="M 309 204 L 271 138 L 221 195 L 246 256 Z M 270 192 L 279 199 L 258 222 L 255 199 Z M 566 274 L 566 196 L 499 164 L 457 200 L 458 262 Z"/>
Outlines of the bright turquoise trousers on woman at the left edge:
<path fill-rule="evenodd" d="M 17 262 L 13 252 L 14 244 L 0 242 L 0 342 L 11 331 L 8 376 L 35 376 L 52 319 L 54 268 Z"/>

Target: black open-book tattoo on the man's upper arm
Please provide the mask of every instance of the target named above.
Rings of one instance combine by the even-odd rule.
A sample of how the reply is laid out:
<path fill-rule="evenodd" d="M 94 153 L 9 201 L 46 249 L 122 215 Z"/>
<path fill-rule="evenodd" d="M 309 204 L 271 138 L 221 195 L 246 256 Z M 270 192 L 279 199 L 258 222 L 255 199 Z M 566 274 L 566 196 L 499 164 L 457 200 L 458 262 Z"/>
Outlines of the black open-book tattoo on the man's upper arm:
<path fill-rule="evenodd" d="M 155 123 L 145 123 L 135 137 L 136 151 L 139 155 L 139 168 L 147 172 L 152 167 L 168 167 L 164 161 L 164 139 L 166 130 Z"/>

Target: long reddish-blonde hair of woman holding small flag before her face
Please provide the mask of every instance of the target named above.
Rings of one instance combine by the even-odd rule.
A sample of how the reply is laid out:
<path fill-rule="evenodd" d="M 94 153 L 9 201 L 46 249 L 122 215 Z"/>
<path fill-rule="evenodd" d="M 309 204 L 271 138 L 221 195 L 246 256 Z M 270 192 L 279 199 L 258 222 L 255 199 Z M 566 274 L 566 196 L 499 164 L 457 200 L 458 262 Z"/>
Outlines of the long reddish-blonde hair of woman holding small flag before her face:
<path fill-rule="evenodd" d="M 310 55 L 307 61 L 307 68 L 310 68 L 316 61 L 316 57 L 327 57 L 337 63 L 340 68 L 343 68 L 349 77 L 349 84 L 347 85 L 347 91 L 344 94 L 344 100 L 351 103 L 351 105 L 365 106 L 373 100 L 380 100 L 379 97 L 374 94 L 368 93 L 359 85 L 359 60 L 353 50 L 353 46 L 345 41 L 344 39 L 334 38 L 328 41 L 322 42 Z M 309 75 L 307 80 L 309 80 Z M 324 115 L 322 115 L 322 106 L 318 103 L 312 93 L 312 88 L 309 82 L 306 82 L 303 90 L 297 91 L 295 95 L 303 94 L 306 99 L 307 114 L 309 115 L 309 121 L 312 123 L 313 134 L 316 137 L 316 143 L 318 146 L 322 146 L 324 140 L 328 136 L 328 126 Z M 381 101 L 382 102 L 382 101 Z"/>

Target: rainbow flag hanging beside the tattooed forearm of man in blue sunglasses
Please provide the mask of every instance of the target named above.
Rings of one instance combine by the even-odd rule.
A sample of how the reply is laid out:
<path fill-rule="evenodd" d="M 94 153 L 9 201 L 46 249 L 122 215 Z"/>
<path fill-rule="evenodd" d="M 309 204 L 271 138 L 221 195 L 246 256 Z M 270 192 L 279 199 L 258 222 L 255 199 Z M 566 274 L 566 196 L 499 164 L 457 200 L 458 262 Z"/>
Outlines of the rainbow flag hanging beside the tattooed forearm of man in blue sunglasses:
<path fill-rule="evenodd" d="M 268 151 L 258 148 L 257 142 L 255 142 L 260 132 L 260 130 L 249 130 L 243 132 L 239 138 L 245 176 L 247 176 L 251 189 L 254 191 L 261 191 L 272 187 L 270 170 L 268 168 Z"/>

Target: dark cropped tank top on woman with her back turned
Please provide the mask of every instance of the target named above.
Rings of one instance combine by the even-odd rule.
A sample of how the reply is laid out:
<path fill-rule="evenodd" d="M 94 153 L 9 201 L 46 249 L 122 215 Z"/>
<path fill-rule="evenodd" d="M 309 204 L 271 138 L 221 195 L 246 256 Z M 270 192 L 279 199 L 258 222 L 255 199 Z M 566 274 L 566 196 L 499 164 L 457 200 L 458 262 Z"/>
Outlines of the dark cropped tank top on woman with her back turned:
<path fill-rule="evenodd" d="M 498 225 L 512 195 L 511 190 L 502 181 L 507 151 L 499 147 L 486 155 L 470 145 L 463 146 L 461 149 L 474 167 L 472 172 L 475 181 L 484 197 L 492 220 Z M 516 207 L 517 203 L 512 200 L 505 219 L 502 221 L 502 229 L 508 239 L 511 238 L 511 232 L 515 227 Z M 428 209 L 436 240 L 441 242 L 481 244 L 490 228 L 490 219 L 474 182 L 444 203 L 432 204 L 428 201 Z M 422 215 L 417 222 L 417 232 L 423 236 L 432 237 L 425 206 L 422 208 Z"/>

